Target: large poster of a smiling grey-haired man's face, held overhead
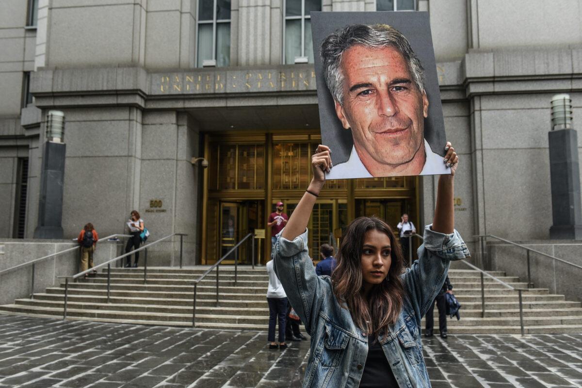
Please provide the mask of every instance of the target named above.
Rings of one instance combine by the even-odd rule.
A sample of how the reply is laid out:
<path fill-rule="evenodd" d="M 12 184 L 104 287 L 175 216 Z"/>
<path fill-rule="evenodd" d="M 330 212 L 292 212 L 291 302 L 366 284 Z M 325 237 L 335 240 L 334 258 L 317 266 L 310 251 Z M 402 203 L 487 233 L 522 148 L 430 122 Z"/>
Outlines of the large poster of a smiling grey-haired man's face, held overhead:
<path fill-rule="evenodd" d="M 448 174 L 426 12 L 312 12 L 328 179 Z"/>

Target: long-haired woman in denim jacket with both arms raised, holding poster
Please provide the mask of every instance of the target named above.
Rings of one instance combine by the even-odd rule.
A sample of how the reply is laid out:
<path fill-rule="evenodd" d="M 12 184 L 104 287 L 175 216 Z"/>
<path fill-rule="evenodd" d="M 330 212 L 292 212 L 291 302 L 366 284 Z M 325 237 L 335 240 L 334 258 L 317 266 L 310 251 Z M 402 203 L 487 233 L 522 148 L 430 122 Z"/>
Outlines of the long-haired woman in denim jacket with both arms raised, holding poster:
<path fill-rule="evenodd" d="M 308 256 L 307 223 L 331 170 L 331 151 L 311 159 L 313 179 L 277 235 L 274 264 L 290 303 L 311 335 L 303 387 L 430 387 L 420 320 L 432 306 L 450 261 L 469 257 L 454 229 L 450 143 L 438 183 L 434 220 L 424 229 L 418 260 L 403 272 L 398 238 L 384 220 L 360 217 L 342 236 L 331 278 L 317 276 Z"/>

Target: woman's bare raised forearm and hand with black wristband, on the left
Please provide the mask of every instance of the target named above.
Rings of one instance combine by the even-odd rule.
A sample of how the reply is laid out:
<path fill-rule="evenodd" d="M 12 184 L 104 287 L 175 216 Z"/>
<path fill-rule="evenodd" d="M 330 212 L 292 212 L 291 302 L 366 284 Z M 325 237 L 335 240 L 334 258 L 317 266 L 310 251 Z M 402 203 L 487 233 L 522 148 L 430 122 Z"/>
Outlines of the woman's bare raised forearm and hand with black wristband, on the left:
<path fill-rule="evenodd" d="M 281 237 L 287 240 L 293 240 L 301 233 L 305 232 L 309 217 L 313 211 L 313 206 L 317 196 L 320 195 L 321 188 L 325 184 L 325 171 L 329 171 L 332 167 L 331 154 L 329 147 L 324 145 L 317 146 L 315 155 L 311 157 L 311 170 L 313 171 L 313 178 L 307 188 L 307 191 L 301 197 L 299 204 L 293 214 L 289 218 L 285 229 L 281 233 Z"/>

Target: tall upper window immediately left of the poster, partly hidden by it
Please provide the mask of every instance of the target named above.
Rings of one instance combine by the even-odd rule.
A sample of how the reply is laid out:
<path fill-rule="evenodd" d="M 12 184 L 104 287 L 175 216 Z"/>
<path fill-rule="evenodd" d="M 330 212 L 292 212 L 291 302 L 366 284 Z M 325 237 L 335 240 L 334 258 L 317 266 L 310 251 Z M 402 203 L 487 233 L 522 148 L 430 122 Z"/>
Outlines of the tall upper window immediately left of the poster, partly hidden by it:
<path fill-rule="evenodd" d="M 311 16 L 309 13 L 321 10 L 321 0 L 286 0 L 284 9 L 284 62 L 293 64 L 296 57 L 307 57 L 307 62 L 313 63 Z"/>

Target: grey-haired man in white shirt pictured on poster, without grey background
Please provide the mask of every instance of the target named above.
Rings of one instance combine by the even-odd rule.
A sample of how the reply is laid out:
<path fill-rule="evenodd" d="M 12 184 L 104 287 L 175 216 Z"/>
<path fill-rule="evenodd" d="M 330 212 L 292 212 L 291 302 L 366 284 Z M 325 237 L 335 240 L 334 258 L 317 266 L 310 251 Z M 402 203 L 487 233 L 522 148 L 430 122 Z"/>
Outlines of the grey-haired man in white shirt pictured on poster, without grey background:
<path fill-rule="evenodd" d="M 354 142 L 327 179 L 450 174 L 424 138 L 424 69 L 404 35 L 386 24 L 353 24 L 324 40 L 321 58 L 336 115 Z"/>

